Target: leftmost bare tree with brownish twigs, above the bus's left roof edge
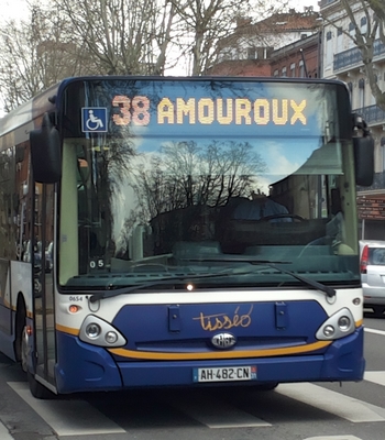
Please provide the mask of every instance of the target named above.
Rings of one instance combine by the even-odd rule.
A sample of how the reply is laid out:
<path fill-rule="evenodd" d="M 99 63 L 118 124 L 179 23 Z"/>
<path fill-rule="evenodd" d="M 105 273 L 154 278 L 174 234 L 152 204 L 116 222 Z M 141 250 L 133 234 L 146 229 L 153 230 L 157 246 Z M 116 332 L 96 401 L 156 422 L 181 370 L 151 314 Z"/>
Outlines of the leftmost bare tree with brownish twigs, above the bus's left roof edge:
<path fill-rule="evenodd" d="M 0 30 L 0 95 L 4 110 L 25 102 L 66 76 L 81 74 L 81 47 L 66 38 L 68 22 L 53 10 L 31 6 L 30 18 Z"/>

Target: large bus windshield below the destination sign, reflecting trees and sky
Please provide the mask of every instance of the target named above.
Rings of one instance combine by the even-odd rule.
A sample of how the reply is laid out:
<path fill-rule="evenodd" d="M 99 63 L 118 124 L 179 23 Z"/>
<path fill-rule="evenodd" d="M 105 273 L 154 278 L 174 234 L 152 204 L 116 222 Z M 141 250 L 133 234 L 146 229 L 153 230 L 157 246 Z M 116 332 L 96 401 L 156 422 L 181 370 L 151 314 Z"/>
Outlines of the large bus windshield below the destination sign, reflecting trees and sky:
<path fill-rule="evenodd" d="M 321 108 L 323 131 L 298 136 L 133 136 L 123 128 L 65 140 L 61 284 L 114 288 L 194 275 L 226 286 L 207 275 L 245 260 L 320 283 L 356 282 L 352 148 Z M 301 285 L 272 268 L 232 275 L 233 286 Z"/>

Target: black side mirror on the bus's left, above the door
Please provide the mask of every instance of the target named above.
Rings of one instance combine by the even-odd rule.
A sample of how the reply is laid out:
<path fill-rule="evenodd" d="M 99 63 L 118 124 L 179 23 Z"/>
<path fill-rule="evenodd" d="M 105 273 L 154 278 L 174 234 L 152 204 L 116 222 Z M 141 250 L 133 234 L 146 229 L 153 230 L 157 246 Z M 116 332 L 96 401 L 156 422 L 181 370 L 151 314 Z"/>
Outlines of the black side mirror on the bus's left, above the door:
<path fill-rule="evenodd" d="M 62 176 L 61 138 L 48 113 L 42 127 L 30 132 L 31 162 L 35 182 L 55 184 Z"/>

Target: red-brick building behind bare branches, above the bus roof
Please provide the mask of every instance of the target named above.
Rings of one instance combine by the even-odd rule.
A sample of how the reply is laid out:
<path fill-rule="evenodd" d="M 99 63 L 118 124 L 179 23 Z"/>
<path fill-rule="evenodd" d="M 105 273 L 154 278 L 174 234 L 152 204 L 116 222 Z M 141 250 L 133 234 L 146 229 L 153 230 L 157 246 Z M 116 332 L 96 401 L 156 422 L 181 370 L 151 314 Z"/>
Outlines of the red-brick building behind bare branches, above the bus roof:
<path fill-rule="evenodd" d="M 210 75 L 319 75 L 319 15 L 312 8 L 289 10 L 253 23 L 239 20 L 232 35 L 219 44 L 219 62 Z"/>

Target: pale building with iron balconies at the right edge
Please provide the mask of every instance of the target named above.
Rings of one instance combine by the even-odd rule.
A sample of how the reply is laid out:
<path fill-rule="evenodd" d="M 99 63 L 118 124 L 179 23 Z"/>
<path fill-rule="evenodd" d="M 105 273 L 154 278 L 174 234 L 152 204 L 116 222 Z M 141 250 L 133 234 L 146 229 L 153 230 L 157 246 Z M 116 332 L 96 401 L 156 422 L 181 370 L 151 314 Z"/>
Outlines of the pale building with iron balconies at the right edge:
<path fill-rule="evenodd" d="M 361 0 L 350 1 L 355 23 L 350 20 L 340 0 L 319 2 L 322 22 L 321 72 L 324 78 L 337 78 L 348 84 L 352 108 L 363 116 L 375 140 L 375 179 L 370 188 L 358 188 L 361 238 L 385 240 L 385 112 L 372 95 L 362 55 L 353 41 L 355 24 L 365 34 L 371 30 Z M 378 34 L 374 40 L 373 63 L 375 80 L 385 90 L 385 46 Z"/>

